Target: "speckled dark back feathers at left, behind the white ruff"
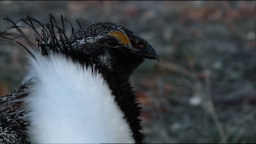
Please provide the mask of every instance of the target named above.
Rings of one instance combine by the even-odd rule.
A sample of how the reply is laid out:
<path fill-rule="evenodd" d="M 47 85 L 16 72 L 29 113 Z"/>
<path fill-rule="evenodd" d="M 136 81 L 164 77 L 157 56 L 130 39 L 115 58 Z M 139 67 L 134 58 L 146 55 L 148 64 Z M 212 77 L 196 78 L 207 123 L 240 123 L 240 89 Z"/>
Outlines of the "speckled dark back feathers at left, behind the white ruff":
<path fill-rule="evenodd" d="M 0 143 L 29 143 L 23 98 L 28 94 L 31 83 L 17 87 L 13 92 L 0 97 Z"/>

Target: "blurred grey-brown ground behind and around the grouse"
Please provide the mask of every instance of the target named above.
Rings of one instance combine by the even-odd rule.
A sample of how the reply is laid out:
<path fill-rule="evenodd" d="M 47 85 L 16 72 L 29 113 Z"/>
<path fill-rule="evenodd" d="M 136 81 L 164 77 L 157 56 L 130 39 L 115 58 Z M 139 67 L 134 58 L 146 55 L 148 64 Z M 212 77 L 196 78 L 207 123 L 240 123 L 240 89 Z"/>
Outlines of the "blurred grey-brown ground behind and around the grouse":
<path fill-rule="evenodd" d="M 255 143 L 255 1 L 1 1 L 4 21 L 61 14 L 82 26 L 120 23 L 155 47 L 132 76 L 147 143 Z M 24 52 L 0 42 L 0 95 L 26 73 Z"/>

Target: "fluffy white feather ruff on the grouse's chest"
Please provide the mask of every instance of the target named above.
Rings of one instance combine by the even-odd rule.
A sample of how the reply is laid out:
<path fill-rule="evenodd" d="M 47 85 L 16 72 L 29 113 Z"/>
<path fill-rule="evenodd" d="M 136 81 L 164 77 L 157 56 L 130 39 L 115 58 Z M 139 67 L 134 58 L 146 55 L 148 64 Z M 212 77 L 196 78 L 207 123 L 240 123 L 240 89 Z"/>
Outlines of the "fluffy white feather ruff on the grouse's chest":
<path fill-rule="evenodd" d="M 107 82 L 61 55 L 36 56 L 25 80 L 32 143 L 134 143 Z"/>

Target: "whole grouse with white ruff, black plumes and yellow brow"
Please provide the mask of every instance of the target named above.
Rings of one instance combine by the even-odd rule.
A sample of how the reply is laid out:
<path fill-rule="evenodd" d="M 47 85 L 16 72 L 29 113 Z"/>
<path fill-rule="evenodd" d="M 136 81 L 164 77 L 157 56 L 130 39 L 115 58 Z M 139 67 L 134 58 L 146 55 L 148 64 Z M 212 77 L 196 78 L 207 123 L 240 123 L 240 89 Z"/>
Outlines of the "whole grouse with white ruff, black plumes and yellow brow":
<path fill-rule="evenodd" d="M 0 97 L 0 143 L 144 142 L 130 77 L 145 59 L 159 61 L 152 45 L 113 22 L 74 31 L 62 16 L 61 22 L 53 15 L 46 23 L 30 16 L 4 20 L 11 27 L 0 37 L 26 52 L 28 71 Z"/>

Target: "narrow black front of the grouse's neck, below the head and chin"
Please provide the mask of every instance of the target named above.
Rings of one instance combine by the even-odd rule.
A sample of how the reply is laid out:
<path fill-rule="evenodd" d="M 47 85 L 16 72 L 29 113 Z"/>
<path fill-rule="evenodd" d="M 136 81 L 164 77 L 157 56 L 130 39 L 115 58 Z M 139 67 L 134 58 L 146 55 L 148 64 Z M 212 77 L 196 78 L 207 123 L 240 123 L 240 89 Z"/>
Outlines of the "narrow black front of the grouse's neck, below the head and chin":
<path fill-rule="evenodd" d="M 141 133 L 141 120 L 138 118 L 141 107 L 138 106 L 135 91 L 133 91 L 129 74 L 103 74 L 109 88 L 112 90 L 114 100 L 117 102 L 124 118 L 132 130 L 133 139 L 136 143 L 142 143 L 144 135 Z"/>

